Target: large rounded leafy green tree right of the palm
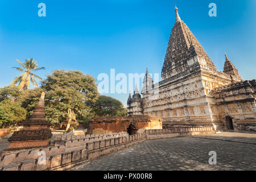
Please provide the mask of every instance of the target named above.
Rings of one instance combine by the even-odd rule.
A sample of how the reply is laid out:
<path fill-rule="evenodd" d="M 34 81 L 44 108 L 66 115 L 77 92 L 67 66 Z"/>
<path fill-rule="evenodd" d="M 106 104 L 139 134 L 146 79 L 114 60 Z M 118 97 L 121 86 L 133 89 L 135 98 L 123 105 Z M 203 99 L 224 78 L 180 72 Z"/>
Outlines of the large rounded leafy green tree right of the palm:
<path fill-rule="evenodd" d="M 55 70 L 42 81 L 46 90 L 46 111 L 52 123 L 67 122 L 65 131 L 91 115 L 90 105 L 96 102 L 96 80 L 80 71 Z"/>

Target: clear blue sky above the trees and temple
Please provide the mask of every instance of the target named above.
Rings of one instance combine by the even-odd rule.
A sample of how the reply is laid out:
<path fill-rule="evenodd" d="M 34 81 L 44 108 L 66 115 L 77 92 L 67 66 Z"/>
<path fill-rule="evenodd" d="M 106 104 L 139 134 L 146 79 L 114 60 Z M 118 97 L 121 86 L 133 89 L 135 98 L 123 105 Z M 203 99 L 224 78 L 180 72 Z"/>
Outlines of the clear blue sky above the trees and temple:
<path fill-rule="evenodd" d="M 38 4 L 46 4 L 46 17 Z M 216 3 L 217 17 L 208 15 Z M 9 67 L 24 57 L 38 60 L 45 76 L 53 69 L 100 73 L 161 72 L 175 23 L 174 5 L 218 71 L 224 51 L 244 80 L 256 78 L 255 0 L 0 1 L 0 86 L 20 72 Z M 108 94 L 126 106 L 128 94 Z"/>

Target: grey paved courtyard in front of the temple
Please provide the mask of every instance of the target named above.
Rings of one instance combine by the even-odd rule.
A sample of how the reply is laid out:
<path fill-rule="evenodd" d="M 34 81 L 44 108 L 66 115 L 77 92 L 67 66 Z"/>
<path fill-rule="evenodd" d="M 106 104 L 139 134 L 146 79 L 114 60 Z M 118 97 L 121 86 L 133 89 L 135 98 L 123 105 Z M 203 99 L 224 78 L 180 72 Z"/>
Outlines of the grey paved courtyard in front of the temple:
<path fill-rule="evenodd" d="M 256 170 L 256 144 L 238 143 L 249 135 L 235 134 L 225 141 L 214 137 L 228 137 L 229 133 L 200 136 L 205 138 L 181 137 L 147 140 L 136 146 L 125 148 L 93 159 L 71 170 Z M 255 135 L 255 134 L 253 134 Z M 208 138 L 206 138 L 208 137 Z M 250 138 L 255 141 L 254 136 Z M 209 152 L 217 153 L 217 164 L 210 165 Z"/>

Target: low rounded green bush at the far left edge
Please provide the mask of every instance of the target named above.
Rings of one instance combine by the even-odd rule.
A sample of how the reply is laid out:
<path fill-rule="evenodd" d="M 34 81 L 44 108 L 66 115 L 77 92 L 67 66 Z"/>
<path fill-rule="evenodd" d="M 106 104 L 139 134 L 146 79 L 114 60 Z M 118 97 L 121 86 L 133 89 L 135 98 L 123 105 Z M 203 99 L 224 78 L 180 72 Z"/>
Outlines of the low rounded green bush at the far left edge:
<path fill-rule="evenodd" d="M 19 102 L 10 100 L 0 102 L 0 127 L 16 125 L 26 119 L 27 111 Z"/>

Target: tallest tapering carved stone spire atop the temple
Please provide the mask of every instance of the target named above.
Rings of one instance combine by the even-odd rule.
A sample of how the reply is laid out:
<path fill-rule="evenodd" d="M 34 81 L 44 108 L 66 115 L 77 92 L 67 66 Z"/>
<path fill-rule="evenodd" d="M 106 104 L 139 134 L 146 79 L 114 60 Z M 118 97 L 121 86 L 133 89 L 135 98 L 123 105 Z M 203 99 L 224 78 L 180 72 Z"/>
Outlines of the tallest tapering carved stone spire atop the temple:
<path fill-rule="evenodd" d="M 189 71 L 192 65 L 199 65 L 200 69 L 217 72 L 215 65 L 176 12 L 176 22 L 171 31 L 166 56 L 162 68 L 162 80 Z"/>

